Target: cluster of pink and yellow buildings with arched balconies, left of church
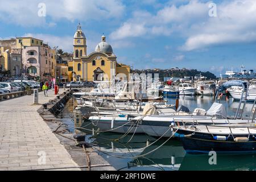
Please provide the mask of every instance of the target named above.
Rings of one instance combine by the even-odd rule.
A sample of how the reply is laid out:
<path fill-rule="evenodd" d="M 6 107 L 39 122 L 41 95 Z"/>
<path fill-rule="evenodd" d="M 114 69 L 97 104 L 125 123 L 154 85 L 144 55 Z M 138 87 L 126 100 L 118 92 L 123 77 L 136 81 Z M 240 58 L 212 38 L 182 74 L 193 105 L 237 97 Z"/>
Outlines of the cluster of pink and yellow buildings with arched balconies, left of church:
<path fill-rule="evenodd" d="M 9 61 L 5 62 L 5 69 L 10 70 L 12 76 L 20 75 L 22 69 L 24 78 L 50 80 L 55 77 L 56 50 L 44 44 L 43 40 L 22 37 L 1 40 L 0 46 L 3 47 L 2 52 L 5 52 L 5 55 L 9 54 L 6 55 Z"/>

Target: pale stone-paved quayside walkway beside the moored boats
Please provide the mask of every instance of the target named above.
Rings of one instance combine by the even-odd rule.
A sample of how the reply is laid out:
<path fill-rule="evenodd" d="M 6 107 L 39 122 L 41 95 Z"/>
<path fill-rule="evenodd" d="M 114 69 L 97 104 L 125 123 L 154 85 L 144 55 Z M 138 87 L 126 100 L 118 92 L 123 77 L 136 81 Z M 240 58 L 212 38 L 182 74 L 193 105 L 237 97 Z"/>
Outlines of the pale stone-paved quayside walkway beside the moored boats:
<path fill-rule="evenodd" d="M 56 97 L 52 90 L 48 96 L 40 92 L 39 104 Z M 40 106 L 32 95 L 0 102 L 0 170 L 79 170 L 69 168 L 78 166 L 36 111 Z"/>

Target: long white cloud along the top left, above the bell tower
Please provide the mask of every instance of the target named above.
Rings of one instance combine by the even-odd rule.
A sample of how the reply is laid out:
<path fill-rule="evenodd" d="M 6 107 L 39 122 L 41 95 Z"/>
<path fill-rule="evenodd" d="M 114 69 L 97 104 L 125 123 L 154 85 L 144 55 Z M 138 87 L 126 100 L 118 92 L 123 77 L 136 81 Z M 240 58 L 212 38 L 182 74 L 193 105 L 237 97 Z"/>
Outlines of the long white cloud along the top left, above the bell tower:
<path fill-rule="evenodd" d="M 102 20 L 119 18 L 122 16 L 125 6 L 117 0 L 44 0 L 46 5 L 46 17 L 38 16 L 38 5 L 41 0 L 0 0 L 0 22 L 15 23 L 24 27 L 53 26 L 51 20 Z M 51 21 L 50 20 L 50 21 Z"/>

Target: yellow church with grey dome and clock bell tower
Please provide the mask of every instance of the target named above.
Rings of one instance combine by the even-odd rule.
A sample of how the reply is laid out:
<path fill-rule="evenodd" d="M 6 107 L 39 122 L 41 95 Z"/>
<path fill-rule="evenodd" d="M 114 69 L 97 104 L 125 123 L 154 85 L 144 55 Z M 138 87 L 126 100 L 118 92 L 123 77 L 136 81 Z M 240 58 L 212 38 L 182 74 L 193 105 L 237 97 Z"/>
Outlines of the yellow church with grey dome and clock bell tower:
<path fill-rule="evenodd" d="M 86 37 L 79 23 L 73 38 L 73 61 L 69 63 L 68 71 L 73 81 L 114 81 L 125 77 L 128 80 L 130 67 L 117 63 L 117 56 L 105 35 L 94 52 L 87 55 Z"/>

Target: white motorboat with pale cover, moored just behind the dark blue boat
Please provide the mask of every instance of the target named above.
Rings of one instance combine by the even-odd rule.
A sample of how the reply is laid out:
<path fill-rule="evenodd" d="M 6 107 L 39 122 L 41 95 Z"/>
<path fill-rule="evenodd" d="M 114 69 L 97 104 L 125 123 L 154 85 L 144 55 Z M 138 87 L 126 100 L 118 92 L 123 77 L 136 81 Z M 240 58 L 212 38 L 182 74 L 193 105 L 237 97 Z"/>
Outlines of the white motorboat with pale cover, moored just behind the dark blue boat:
<path fill-rule="evenodd" d="M 199 110 L 198 113 L 194 111 L 193 114 L 176 113 L 173 115 L 146 115 L 135 117 L 131 120 L 138 121 L 139 119 L 141 119 L 141 129 L 144 133 L 152 137 L 171 137 L 171 125 L 225 125 L 238 123 L 245 124 L 251 122 L 251 119 L 228 119 L 226 116 L 225 106 L 217 103 L 214 103 L 205 113 L 204 111 Z"/>

